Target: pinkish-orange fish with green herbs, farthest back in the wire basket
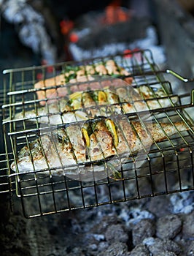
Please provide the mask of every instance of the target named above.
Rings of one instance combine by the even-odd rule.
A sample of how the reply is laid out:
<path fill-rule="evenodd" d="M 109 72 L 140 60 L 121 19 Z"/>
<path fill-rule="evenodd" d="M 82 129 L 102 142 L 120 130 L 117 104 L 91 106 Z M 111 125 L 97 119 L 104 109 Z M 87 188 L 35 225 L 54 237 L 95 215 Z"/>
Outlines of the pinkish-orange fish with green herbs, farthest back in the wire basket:
<path fill-rule="evenodd" d="M 71 87 L 71 91 L 85 91 L 88 89 L 88 81 L 90 81 L 90 86 L 93 89 L 100 89 L 104 82 L 102 83 L 91 83 L 93 80 L 93 76 L 101 76 L 101 75 L 109 75 L 114 78 L 120 76 L 128 76 L 130 72 L 128 72 L 123 67 L 120 67 L 114 60 L 109 59 L 105 62 L 96 63 L 96 64 L 88 64 L 86 66 L 65 66 L 63 72 L 60 75 L 56 75 L 53 78 L 47 78 L 45 80 L 40 80 L 35 83 L 34 88 L 38 89 L 36 91 L 38 99 L 49 99 L 50 97 L 55 96 L 64 97 L 68 94 L 67 87 Z M 126 77 L 124 78 L 125 82 L 131 84 L 133 78 Z M 79 86 L 77 83 L 81 82 Z M 86 82 L 86 83 L 84 83 Z M 122 80 L 116 80 L 116 83 L 121 83 Z M 106 82 L 107 83 L 107 82 Z M 109 83 L 109 82 L 108 82 Z M 114 81 L 112 81 L 114 83 Z M 75 85 L 74 85 L 75 84 Z M 49 89 L 51 86 L 61 86 L 54 89 Z M 41 90 L 42 88 L 48 88 L 46 91 Z M 40 89 L 40 90 L 39 90 Z M 41 105 L 45 105 L 45 101 L 40 101 Z"/>

